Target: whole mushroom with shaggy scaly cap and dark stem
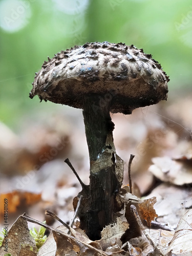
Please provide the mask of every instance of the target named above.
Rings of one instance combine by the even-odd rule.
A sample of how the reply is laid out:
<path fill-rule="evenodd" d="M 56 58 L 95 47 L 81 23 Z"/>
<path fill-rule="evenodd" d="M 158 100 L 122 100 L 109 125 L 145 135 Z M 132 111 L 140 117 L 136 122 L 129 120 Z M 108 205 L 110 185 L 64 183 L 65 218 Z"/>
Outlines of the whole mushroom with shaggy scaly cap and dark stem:
<path fill-rule="evenodd" d="M 151 54 L 121 42 L 86 43 L 61 51 L 36 73 L 30 98 L 83 110 L 90 156 L 90 186 L 79 218 L 90 239 L 115 215 L 115 198 L 123 180 L 123 161 L 113 143 L 111 113 L 131 114 L 136 108 L 167 98 L 168 76 Z M 83 202 L 83 201 L 82 201 Z"/>

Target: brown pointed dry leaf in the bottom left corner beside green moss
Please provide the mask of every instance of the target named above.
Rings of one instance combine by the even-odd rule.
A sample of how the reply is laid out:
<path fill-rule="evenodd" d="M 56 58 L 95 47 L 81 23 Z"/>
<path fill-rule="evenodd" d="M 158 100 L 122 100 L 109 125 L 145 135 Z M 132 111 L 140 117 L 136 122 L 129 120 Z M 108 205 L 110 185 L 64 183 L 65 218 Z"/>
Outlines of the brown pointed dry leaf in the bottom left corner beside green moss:
<path fill-rule="evenodd" d="M 19 217 L 12 225 L 0 247 L 1 256 L 9 255 L 8 253 L 14 256 L 37 255 L 35 240 L 30 235 L 27 221 L 22 217 Z"/>

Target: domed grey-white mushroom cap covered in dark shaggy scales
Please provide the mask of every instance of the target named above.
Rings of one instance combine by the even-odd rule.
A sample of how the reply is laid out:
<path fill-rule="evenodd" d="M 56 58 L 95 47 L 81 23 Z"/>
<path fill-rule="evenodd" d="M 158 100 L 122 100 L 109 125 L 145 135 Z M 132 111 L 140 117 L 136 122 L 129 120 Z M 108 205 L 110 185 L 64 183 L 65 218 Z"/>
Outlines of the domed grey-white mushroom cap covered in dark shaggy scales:
<path fill-rule="evenodd" d="M 151 54 L 121 42 L 92 42 L 61 51 L 36 74 L 30 98 L 83 109 L 84 95 L 111 100 L 112 113 L 131 114 L 136 108 L 167 98 L 166 73 Z"/>

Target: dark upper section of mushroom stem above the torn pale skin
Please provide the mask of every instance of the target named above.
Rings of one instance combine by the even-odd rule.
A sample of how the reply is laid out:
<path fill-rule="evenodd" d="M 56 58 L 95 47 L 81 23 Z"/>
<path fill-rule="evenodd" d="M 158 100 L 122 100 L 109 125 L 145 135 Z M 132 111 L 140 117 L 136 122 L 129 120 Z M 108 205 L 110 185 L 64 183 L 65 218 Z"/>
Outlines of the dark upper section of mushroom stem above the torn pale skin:
<path fill-rule="evenodd" d="M 113 148 L 114 123 L 110 116 L 111 99 L 104 100 L 98 94 L 84 97 L 83 117 L 86 129 L 86 137 L 92 161 L 99 159 L 106 148 Z M 106 141 L 108 139 L 108 141 Z"/>

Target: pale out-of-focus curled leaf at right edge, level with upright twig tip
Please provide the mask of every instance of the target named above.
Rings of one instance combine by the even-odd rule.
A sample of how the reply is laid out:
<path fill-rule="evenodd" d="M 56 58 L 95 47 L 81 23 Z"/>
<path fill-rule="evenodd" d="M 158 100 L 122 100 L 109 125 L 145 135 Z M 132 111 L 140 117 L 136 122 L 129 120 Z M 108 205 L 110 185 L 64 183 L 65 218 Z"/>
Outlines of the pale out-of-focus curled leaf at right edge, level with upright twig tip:
<path fill-rule="evenodd" d="M 155 177 L 175 185 L 192 183 L 192 158 L 155 157 L 149 170 Z"/>

